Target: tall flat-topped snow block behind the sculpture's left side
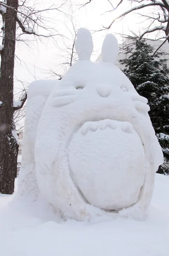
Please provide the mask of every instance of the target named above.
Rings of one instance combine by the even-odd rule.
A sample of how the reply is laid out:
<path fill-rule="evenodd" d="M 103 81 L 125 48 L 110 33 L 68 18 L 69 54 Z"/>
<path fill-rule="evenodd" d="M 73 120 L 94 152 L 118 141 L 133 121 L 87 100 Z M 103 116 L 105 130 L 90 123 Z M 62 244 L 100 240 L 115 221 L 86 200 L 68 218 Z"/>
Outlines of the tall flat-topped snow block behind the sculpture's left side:
<path fill-rule="evenodd" d="M 37 126 L 42 109 L 51 90 L 59 83 L 53 80 L 37 80 L 29 85 L 28 99 L 25 108 L 25 126 L 23 134 L 22 166 L 18 180 L 19 193 L 28 200 L 39 198 L 39 188 L 35 172 L 34 147 Z M 29 197 L 28 197 L 29 196 Z"/>

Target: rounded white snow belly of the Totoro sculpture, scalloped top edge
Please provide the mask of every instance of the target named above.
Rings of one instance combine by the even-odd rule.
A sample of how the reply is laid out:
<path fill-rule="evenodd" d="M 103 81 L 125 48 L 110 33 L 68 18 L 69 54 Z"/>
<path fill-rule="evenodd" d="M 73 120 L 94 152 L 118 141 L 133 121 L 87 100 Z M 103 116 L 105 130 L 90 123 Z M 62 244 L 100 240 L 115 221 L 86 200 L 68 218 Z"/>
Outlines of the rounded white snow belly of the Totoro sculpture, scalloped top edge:
<path fill-rule="evenodd" d="M 87 122 L 73 136 L 68 151 L 70 174 L 90 204 L 119 210 L 138 200 L 144 183 L 144 148 L 132 125 Z"/>

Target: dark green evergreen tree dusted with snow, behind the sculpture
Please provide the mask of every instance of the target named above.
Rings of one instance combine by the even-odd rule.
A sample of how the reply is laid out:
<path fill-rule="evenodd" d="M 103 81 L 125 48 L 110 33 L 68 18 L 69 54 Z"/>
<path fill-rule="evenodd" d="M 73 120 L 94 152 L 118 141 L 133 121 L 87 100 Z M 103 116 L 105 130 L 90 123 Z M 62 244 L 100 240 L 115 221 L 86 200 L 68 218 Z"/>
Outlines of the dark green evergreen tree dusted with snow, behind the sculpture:
<path fill-rule="evenodd" d="M 135 40 L 132 54 L 120 60 L 123 72 L 137 92 L 148 99 L 149 116 L 166 161 L 169 161 L 169 70 L 163 69 L 164 53 L 153 55 L 154 49 L 145 40 Z M 159 173 L 169 174 L 167 165 L 160 166 Z"/>

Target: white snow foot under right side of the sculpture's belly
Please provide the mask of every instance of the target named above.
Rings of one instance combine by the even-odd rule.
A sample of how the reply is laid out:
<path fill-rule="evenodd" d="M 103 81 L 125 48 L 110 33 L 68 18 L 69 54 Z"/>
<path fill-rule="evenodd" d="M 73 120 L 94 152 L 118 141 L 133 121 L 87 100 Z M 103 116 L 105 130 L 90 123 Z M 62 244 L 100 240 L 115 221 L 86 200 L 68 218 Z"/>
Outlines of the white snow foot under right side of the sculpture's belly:
<path fill-rule="evenodd" d="M 136 221 L 145 221 L 147 218 L 147 209 L 142 207 L 139 203 L 133 204 L 126 209 L 122 209 L 118 213 L 122 217 L 133 218 Z"/>

